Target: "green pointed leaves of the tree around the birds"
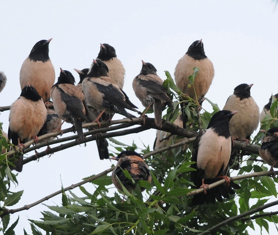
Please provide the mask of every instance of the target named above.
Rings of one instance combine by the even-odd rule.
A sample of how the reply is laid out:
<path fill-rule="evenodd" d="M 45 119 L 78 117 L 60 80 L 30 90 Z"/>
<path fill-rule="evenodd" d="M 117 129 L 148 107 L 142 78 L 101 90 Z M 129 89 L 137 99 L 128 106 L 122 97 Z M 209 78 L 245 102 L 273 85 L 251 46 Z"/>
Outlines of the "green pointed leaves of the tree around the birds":
<path fill-rule="evenodd" d="M 198 72 L 198 68 L 195 69 Z M 180 97 L 186 97 L 176 87 L 169 72 L 165 72 L 167 79 L 164 87 L 168 89 L 169 95 L 174 97 L 174 109 L 167 109 L 164 116 L 166 121 L 173 122 L 179 115 Z M 195 76 L 196 76 L 195 73 Z M 192 84 L 194 85 L 194 74 Z M 201 110 L 201 114 L 196 111 L 198 104 L 190 100 L 189 105 L 185 108 L 189 116 L 189 126 L 192 130 L 198 130 L 201 126 L 206 128 L 211 116 L 219 110 L 218 106 L 207 100 L 213 112 Z M 263 120 L 262 129 L 268 129 L 271 126 L 277 126 L 277 100 L 274 99 L 271 105 L 271 116 L 267 116 Z M 2 135 L 1 135 L 2 136 Z M 180 139 L 181 136 L 177 136 Z M 260 145 L 263 133 L 258 133 L 252 143 Z M 134 143 L 127 146 L 124 143 L 112 142 L 119 145 L 117 151 L 124 149 L 137 150 Z M 170 140 L 171 144 L 175 140 Z M 49 143 L 48 143 L 49 144 Z M 11 146 L 5 138 L 0 139 L 0 145 L 6 149 Z M 237 190 L 236 195 L 224 199 L 223 202 L 215 204 L 204 204 L 202 206 L 192 206 L 192 198 L 187 195 L 191 192 L 190 171 L 194 169 L 190 167 L 192 142 L 189 147 L 182 151 L 182 146 L 163 153 L 152 154 L 151 157 L 145 159 L 150 166 L 152 173 L 152 183 L 139 181 L 135 191 L 130 194 L 124 188 L 123 195 L 119 192 L 112 192 L 111 176 L 103 174 L 96 176 L 89 181 L 95 186 L 94 192 L 89 192 L 84 186 L 79 186 L 83 197 L 76 196 L 69 191 L 61 190 L 61 205 L 48 206 L 49 211 L 42 212 L 41 220 L 30 219 L 32 233 L 41 234 L 40 229 L 46 234 L 198 234 L 201 231 L 209 231 L 209 229 L 218 225 L 220 222 L 228 218 L 237 216 L 238 214 L 259 208 L 268 202 L 270 197 L 277 197 L 277 179 L 268 176 L 251 177 L 238 180 L 237 183 L 241 189 Z M 139 152 L 139 150 L 137 150 Z M 146 146 L 141 150 L 143 155 L 149 154 L 150 148 Z M 163 156 L 163 157 L 162 157 Z M 241 169 L 239 171 L 230 172 L 231 175 L 244 175 L 252 172 L 267 171 L 268 166 L 260 161 L 256 161 L 258 155 L 251 154 L 245 156 Z M 11 210 L 7 210 L 6 206 L 15 205 L 23 193 L 10 192 L 9 184 L 18 183 L 16 176 L 9 169 L 16 159 L 16 155 L 12 154 L 7 157 L 6 153 L 0 156 L 0 215 L 2 218 L 2 228 L 4 234 L 14 234 L 14 228 L 19 218 L 10 224 Z M 91 177 L 91 176 L 90 176 Z M 90 179 L 90 177 L 88 179 Z M 141 193 L 140 188 L 145 187 L 147 190 Z M 261 229 L 269 232 L 269 223 L 278 223 L 278 216 L 267 216 L 262 211 L 255 213 L 257 218 L 250 220 L 244 217 L 237 219 L 221 226 L 220 229 L 210 234 L 248 234 L 247 227 L 254 229 L 254 222 Z M 260 215 L 262 217 L 260 217 Z M 16 216 L 16 215 L 15 215 Z M 24 234 L 27 235 L 24 230 Z"/>

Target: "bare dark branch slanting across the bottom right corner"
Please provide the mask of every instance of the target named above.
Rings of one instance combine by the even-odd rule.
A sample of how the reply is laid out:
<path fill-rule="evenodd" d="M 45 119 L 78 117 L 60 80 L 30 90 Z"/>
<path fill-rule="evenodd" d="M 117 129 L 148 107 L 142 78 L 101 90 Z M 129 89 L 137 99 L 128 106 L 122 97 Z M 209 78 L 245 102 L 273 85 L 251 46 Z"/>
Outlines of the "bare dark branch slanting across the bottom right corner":
<path fill-rule="evenodd" d="M 233 222 L 233 221 L 236 221 L 236 220 L 241 219 L 241 218 L 243 218 L 243 217 L 245 217 L 245 216 L 254 214 L 255 212 L 262 211 L 263 209 L 269 208 L 269 207 L 271 207 L 271 206 L 275 206 L 275 205 L 277 205 L 277 204 L 278 204 L 278 200 L 276 200 L 276 201 L 274 201 L 274 202 L 267 203 L 267 204 L 262 205 L 262 206 L 259 206 L 259 207 L 257 207 L 257 208 L 254 208 L 254 209 L 250 210 L 250 211 L 243 212 L 243 213 L 241 213 L 241 214 L 239 214 L 239 215 L 230 217 L 229 219 L 224 220 L 223 222 L 221 222 L 221 223 L 219 223 L 219 224 L 217 224 L 217 225 L 215 225 L 215 226 L 212 226 L 212 227 L 209 228 L 207 231 L 202 232 L 202 233 L 199 233 L 199 235 L 204 235 L 204 234 L 206 234 L 206 233 L 211 233 L 211 232 L 215 231 L 216 229 L 219 229 L 219 228 L 221 228 L 222 226 L 227 225 L 227 224 L 229 224 L 229 223 L 231 223 L 231 222 Z"/>

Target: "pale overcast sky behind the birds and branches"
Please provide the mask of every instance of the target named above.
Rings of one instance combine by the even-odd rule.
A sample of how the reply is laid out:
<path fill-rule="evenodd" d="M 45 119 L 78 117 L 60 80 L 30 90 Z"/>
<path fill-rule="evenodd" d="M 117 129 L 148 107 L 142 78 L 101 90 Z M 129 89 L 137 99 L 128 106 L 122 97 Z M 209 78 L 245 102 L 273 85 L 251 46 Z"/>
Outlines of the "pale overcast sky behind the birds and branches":
<path fill-rule="evenodd" d="M 140 110 L 143 106 L 134 95 L 132 80 L 141 70 L 141 60 L 154 64 L 164 80 L 163 71 L 168 70 L 173 76 L 178 60 L 193 41 L 200 39 L 215 68 L 206 97 L 220 109 L 241 83 L 254 83 L 251 96 L 260 109 L 271 93 L 277 93 L 278 8 L 275 1 L 32 0 L 1 1 L 0 9 L 0 70 L 8 78 L 0 94 L 1 106 L 11 105 L 19 97 L 20 68 L 33 45 L 50 38 L 53 38 L 49 55 L 56 71 L 55 82 L 59 67 L 71 71 L 78 82 L 79 76 L 73 68 L 88 68 L 98 55 L 100 43 L 115 47 L 126 70 L 123 89 Z M 206 101 L 203 107 L 211 110 Z M 9 111 L 5 111 L 0 117 L 6 132 L 8 115 Z M 155 130 L 148 130 L 116 139 L 130 145 L 134 140 L 140 147 L 143 147 L 141 142 L 152 147 L 154 138 Z M 99 159 L 94 142 L 28 163 L 17 177 L 19 186 L 14 190 L 24 189 L 24 194 L 13 208 L 60 190 L 61 183 L 67 187 L 110 166 L 110 160 Z M 85 188 L 94 190 L 90 184 Z M 60 205 L 61 196 L 44 203 Z M 20 215 L 16 234 L 22 234 L 23 228 L 31 233 L 26 218 L 38 220 L 43 210 L 48 208 L 40 205 L 12 215 L 13 221 Z M 275 211 L 277 207 L 270 210 Z M 271 229 L 276 231 L 274 226 Z M 260 234 L 259 229 L 254 234 Z"/>

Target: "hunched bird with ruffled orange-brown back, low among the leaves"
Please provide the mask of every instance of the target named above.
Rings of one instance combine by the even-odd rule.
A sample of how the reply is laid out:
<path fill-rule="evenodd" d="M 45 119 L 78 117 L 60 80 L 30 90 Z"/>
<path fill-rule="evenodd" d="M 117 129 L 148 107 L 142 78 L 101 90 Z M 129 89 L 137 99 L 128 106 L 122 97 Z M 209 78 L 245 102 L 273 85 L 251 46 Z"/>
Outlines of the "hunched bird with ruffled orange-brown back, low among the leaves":
<path fill-rule="evenodd" d="M 123 170 L 127 170 L 135 182 L 139 180 L 151 182 L 152 177 L 149 167 L 143 160 L 142 156 L 137 152 L 132 150 L 122 151 L 117 157 L 112 157 L 110 159 L 118 161 L 115 169 L 112 172 L 112 182 L 119 191 L 122 192 L 123 189 L 116 178 L 116 175 L 128 192 L 131 193 L 132 189 L 134 190 L 136 187 L 136 185 L 125 176 Z M 141 192 L 145 190 L 145 188 L 142 187 L 140 189 Z"/>

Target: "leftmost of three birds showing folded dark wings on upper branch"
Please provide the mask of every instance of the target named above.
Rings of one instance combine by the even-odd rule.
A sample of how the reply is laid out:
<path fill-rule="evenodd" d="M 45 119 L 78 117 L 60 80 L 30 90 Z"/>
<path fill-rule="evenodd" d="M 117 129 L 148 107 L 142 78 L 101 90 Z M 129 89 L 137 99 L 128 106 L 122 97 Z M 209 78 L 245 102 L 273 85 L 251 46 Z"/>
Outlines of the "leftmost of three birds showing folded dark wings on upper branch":
<path fill-rule="evenodd" d="M 71 72 L 60 68 L 58 82 L 51 88 L 54 109 L 59 117 L 75 126 L 80 142 L 84 142 L 82 122 L 91 122 L 83 92 L 74 85 Z"/>

